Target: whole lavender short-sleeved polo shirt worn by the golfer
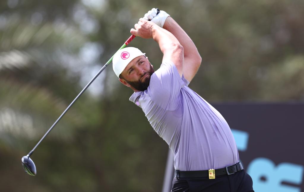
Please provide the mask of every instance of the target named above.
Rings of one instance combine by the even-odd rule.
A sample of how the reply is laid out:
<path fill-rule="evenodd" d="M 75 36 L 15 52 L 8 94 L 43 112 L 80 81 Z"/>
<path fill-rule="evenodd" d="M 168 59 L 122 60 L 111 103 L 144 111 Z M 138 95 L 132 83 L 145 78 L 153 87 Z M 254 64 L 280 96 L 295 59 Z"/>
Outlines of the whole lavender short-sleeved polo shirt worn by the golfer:
<path fill-rule="evenodd" d="M 219 169 L 239 162 L 226 120 L 188 84 L 173 62 L 164 62 L 152 74 L 148 89 L 133 93 L 130 101 L 143 109 L 168 143 L 175 170 Z"/>

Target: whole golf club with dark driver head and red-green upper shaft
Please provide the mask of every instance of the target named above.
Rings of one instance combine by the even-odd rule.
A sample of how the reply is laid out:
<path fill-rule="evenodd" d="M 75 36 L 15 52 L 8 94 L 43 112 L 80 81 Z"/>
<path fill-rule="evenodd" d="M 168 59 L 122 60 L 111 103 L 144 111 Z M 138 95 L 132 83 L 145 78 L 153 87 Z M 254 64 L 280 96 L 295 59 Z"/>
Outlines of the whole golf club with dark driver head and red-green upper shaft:
<path fill-rule="evenodd" d="M 157 14 L 159 12 L 160 12 L 160 10 L 157 8 Z M 126 42 L 118 50 L 125 48 L 134 38 L 135 38 L 135 35 L 131 35 L 129 37 L 129 39 L 127 39 Z M 98 77 L 98 75 L 106 68 L 106 66 L 109 65 L 109 63 L 112 61 L 113 57 L 114 57 L 114 55 L 98 71 L 98 73 L 93 77 L 93 79 L 82 89 L 82 91 L 78 94 L 78 96 L 72 101 L 72 103 L 67 107 L 67 109 L 64 110 L 64 112 L 58 117 L 58 119 L 55 121 L 55 123 L 50 127 L 50 129 L 47 131 L 47 133 L 44 134 L 44 136 L 40 139 L 40 141 L 36 144 L 36 146 L 26 156 L 22 157 L 22 159 L 21 159 L 22 166 L 23 166 L 23 168 L 24 168 L 24 170 L 25 170 L 26 173 L 28 173 L 29 175 L 32 175 L 32 176 L 35 176 L 37 174 L 35 163 L 29 157 L 33 154 L 34 150 L 40 144 L 40 142 L 50 133 L 50 131 L 54 128 L 54 126 L 58 123 L 58 121 L 64 116 L 65 113 L 67 113 L 67 111 L 71 108 L 71 106 L 82 95 L 82 93 L 85 92 L 85 90 L 88 88 L 88 86 L 90 86 L 91 83 Z"/>

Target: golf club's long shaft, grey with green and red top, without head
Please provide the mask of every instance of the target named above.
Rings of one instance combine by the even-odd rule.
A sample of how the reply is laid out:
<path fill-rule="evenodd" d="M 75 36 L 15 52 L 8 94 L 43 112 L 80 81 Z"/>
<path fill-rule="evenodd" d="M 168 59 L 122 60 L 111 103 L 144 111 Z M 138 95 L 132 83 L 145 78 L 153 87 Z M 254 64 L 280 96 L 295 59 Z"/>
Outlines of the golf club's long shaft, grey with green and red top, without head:
<path fill-rule="evenodd" d="M 135 35 L 131 35 L 129 39 L 126 40 L 126 42 L 118 49 L 125 48 L 133 39 L 135 38 Z M 117 50 L 117 51 L 118 51 Z M 36 146 L 27 154 L 27 156 L 31 156 L 36 149 L 36 147 L 40 144 L 40 142 L 50 133 L 50 131 L 54 128 L 54 126 L 58 123 L 58 121 L 64 116 L 65 113 L 71 108 L 71 106 L 76 102 L 76 100 L 82 95 L 83 92 L 92 84 L 92 82 L 99 76 L 99 74 L 106 68 L 106 66 L 109 65 L 110 62 L 112 62 L 114 55 L 109 59 L 109 61 L 98 71 L 98 73 L 93 77 L 93 79 L 82 89 L 82 91 L 78 94 L 78 96 L 72 101 L 72 103 L 64 110 L 64 112 L 58 117 L 58 119 L 55 121 L 55 123 L 50 127 L 50 129 L 47 131 L 47 133 L 44 134 L 44 136 L 40 139 L 40 141 L 36 144 Z"/>

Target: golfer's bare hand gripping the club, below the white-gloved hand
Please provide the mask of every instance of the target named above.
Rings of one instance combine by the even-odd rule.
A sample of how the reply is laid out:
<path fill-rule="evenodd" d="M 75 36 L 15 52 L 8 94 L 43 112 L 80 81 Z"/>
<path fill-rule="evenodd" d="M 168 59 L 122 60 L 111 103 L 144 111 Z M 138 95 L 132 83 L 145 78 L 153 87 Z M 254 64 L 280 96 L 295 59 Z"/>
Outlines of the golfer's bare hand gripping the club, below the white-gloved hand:
<path fill-rule="evenodd" d="M 158 27 L 155 23 L 140 18 L 139 22 L 134 25 L 135 29 L 132 28 L 130 32 L 135 36 L 149 39 L 153 38 L 153 29 L 155 27 Z"/>

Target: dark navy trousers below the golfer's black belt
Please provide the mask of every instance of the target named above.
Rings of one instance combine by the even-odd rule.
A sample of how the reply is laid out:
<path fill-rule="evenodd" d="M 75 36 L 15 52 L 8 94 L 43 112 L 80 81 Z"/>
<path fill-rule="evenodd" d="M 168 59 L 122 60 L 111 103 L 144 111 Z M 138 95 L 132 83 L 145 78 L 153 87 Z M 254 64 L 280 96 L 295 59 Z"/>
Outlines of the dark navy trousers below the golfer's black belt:
<path fill-rule="evenodd" d="M 244 170 L 232 175 L 179 178 L 174 177 L 171 192 L 254 192 L 252 179 Z"/>

